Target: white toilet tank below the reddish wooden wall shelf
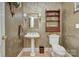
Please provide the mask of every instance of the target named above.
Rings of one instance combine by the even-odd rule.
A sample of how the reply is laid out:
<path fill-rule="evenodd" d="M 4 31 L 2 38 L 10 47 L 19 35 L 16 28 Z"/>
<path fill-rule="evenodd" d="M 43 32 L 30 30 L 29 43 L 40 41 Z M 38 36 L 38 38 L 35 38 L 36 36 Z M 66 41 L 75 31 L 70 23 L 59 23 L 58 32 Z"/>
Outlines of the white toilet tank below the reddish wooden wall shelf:
<path fill-rule="evenodd" d="M 51 35 L 48 35 L 48 37 L 49 37 L 49 44 L 50 45 L 57 45 L 57 44 L 59 44 L 59 35 L 51 34 Z"/>

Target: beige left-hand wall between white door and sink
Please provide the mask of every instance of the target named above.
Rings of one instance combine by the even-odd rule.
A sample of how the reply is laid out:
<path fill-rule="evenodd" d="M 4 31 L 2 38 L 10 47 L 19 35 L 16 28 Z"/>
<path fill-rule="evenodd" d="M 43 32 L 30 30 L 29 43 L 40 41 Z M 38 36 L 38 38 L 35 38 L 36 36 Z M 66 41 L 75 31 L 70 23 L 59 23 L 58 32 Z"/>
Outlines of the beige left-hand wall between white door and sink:
<path fill-rule="evenodd" d="M 12 17 L 9 4 L 5 4 L 6 56 L 18 56 L 22 49 L 22 38 L 18 38 L 18 25 L 22 24 L 22 8 L 16 10 Z"/>

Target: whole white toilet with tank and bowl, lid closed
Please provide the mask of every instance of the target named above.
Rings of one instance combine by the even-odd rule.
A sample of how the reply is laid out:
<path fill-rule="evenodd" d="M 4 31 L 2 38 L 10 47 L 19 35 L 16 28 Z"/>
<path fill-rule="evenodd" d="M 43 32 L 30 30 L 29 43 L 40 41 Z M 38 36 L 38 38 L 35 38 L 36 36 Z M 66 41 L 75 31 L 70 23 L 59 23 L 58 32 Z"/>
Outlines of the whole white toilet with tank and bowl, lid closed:
<path fill-rule="evenodd" d="M 49 44 L 52 46 L 51 55 L 54 57 L 64 57 L 66 50 L 63 46 L 59 45 L 59 35 L 51 34 L 48 35 Z"/>

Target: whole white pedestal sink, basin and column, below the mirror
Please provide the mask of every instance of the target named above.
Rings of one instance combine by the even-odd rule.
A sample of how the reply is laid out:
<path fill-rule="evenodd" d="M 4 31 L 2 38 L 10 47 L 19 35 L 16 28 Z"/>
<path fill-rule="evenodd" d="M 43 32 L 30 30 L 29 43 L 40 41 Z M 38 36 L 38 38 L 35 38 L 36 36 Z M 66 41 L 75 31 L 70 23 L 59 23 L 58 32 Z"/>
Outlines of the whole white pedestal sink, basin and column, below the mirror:
<path fill-rule="evenodd" d="M 25 38 L 31 39 L 31 56 L 35 56 L 35 39 L 39 38 L 40 35 L 38 32 L 28 32 L 24 35 Z"/>

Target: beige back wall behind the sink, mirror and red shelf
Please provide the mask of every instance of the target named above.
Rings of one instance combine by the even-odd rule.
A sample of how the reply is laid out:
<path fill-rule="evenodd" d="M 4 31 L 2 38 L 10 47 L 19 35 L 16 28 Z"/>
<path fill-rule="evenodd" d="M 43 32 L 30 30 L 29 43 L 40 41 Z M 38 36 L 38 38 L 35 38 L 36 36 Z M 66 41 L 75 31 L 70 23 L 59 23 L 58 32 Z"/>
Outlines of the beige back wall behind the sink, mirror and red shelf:
<path fill-rule="evenodd" d="M 40 23 L 40 27 L 35 30 L 37 32 L 40 33 L 41 37 L 39 39 L 36 39 L 35 41 L 35 45 L 36 47 L 39 47 L 40 45 L 44 46 L 44 47 L 49 47 L 49 42 L 48 42 L 48 32 L 45 32 L 45 10 L 46 9 L 59 9 L 61 8 L 61 3 L 47 3 L 47 2 L 28 2 L 28 3 L 24 3 L 23 4 L 23 12 L 24 13 L 40 13 L 41 14 L 41 21 L 39 21 Z M 29 29 L 28 26 L 26 28 L 26 32 L 31 31 L 32 29 Z M 30 40 L 29 39 L 24 39 L 24 47 L 30 47 Z"/>

